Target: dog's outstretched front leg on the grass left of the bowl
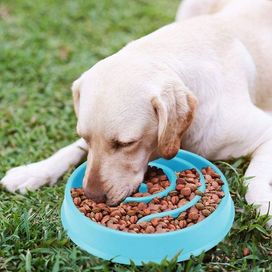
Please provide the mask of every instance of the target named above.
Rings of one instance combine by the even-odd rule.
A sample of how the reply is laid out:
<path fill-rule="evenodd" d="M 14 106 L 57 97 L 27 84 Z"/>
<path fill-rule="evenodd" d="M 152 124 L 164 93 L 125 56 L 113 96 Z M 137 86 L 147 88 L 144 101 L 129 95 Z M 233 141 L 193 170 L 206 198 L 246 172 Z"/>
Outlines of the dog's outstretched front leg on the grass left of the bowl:
<path fill-rule="evenodd" d="M 34 191 L 45 184 L 53 185 L 69 169 L 86 156 L 88 147 L 83 139 L 60 149 L 51 157 L 10 169 L 0 181 L 8 191 L 22 194 Z"/>

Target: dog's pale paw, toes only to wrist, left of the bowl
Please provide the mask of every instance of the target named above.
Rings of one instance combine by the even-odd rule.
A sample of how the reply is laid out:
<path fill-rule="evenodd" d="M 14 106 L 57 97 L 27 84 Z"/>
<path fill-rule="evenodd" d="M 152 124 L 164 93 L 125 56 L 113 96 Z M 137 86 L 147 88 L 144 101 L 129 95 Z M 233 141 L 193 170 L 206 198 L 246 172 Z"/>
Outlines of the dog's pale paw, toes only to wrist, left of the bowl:
<path fill-rule="evenodd" d="M 10 169 L 0 184 L 9 192 L 25 194 L 54 182 L 55 179 L 48 173 L 46 165 L 38 162 Z"/>

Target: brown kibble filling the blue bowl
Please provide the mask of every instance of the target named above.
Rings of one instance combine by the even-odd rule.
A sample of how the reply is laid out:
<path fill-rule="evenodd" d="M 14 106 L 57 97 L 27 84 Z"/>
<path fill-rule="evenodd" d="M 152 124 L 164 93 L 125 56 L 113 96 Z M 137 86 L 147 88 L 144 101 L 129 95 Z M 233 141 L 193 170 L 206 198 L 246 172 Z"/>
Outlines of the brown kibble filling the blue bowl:
<path fill-rule="evenodd" d="M 205 193 L 198 190 L 201 185 L 195 169 L 177 173 L 176 188 L 165 197 L 155 197 L 149 203 L 129 202 L 110 207 L 105 203 L 95 203 L 88 199 L 81 188 L 71 189 L 74 204 L 85 216 L 106 227 L 132 233 L 162 233 L 183 229 L 202 221 L 209 216 L 224 197 L 223 181 L 212 168 L 203 168 L 206 181 Z M 143 197 L 165 190 L 170 185 L 161 169 L 150 167 L 145 175 L 147 193 L 135 193 L 134 197 Z M 148 222 L 137 221 L 149 214 L 169 211 L 183 206 L 196 195 L 201 199 L 194 206 L 182 212 L 177 218 L 165 216 Z"/>

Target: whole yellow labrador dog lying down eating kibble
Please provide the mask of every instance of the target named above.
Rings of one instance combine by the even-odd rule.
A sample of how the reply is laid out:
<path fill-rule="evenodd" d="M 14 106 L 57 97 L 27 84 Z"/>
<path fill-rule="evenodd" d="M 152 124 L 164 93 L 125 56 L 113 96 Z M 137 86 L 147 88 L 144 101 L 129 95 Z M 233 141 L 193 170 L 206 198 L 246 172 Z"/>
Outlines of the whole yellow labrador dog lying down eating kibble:
<path fill-rule="evenodd" d="M 272 1 L 184 0 L 177 22 L 98 62 L 72 86 L 81 139 L 8 171 L 25 193 L 88 153 L 86 194 L 114 205 L 147 163 L 179 148 L 210 160 L 251 156 L 247 201 L 272 201 Z M 270 211 L 272 213 L 272 211 Z M 272 222 L 270 221 L 270 224 Z"/>

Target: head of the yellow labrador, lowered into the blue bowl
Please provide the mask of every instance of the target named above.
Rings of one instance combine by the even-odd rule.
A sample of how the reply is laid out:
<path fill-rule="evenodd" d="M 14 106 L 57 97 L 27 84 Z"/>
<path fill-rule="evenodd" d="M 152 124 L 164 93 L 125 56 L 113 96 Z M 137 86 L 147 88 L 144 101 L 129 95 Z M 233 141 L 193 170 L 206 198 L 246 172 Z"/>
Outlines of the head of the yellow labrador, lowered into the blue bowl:
<path fill-rule="evenodd" d="M 83 187 L 109 205 L 137 190 L 149 160 L 177 154 L 196 107 L 179 78 L 118 65 L 100 63 L 72 86 L 77 132 L 89 145 Z"/>

